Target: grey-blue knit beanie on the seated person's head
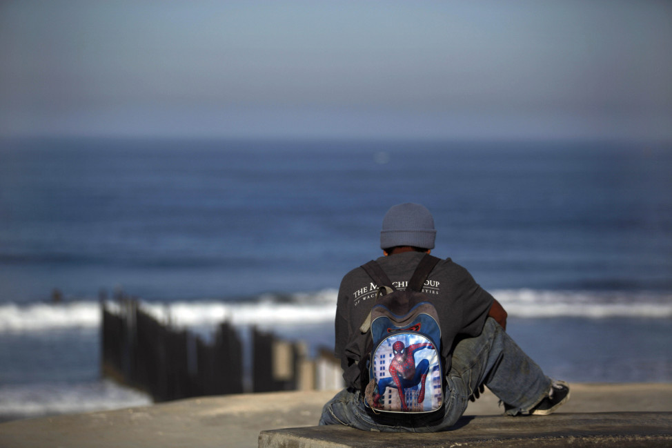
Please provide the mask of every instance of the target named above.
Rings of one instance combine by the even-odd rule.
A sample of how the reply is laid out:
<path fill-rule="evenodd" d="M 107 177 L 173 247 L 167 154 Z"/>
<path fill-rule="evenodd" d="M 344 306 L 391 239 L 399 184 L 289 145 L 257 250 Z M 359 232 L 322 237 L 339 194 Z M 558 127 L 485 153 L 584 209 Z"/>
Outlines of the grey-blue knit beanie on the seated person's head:
<path fill-rule="evenodd" d="M 383 218 L 380 249 L 414 246 L 434 249 L 436 230 L 434 218 L 420 204 L 399 204 L 390 208 Z"/>

